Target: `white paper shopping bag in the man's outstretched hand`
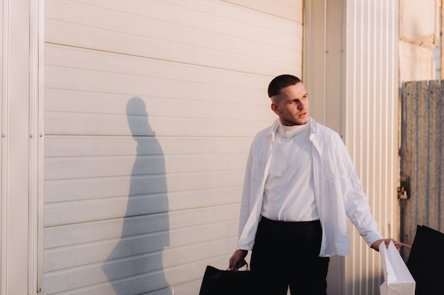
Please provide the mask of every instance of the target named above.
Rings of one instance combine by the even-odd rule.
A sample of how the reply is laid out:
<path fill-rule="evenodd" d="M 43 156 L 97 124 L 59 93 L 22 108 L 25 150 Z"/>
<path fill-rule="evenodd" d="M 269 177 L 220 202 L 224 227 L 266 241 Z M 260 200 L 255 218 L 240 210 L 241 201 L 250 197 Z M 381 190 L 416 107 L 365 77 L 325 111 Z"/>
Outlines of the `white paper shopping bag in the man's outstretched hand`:
<path fill-rule="evenodd" d="M 384 283 L 379 287 L 381 295 L 415 295 L 416 282 L 394 243 L 391 241 L 389 248 L 381 243 L 379 253 L 384 270 Z"/>

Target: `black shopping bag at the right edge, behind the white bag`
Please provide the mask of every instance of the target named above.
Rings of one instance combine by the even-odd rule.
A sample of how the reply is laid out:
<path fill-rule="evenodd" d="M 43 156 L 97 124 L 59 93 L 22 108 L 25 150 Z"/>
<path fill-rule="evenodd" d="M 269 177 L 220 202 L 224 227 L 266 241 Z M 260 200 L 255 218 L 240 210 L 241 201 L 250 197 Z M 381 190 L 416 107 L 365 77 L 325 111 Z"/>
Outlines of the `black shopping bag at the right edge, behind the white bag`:
<path fill-rule="evenodd" d="M 416 226 L 407 267 L 416 281 L 416 295 L 444 294 L 444 233 Z"/>

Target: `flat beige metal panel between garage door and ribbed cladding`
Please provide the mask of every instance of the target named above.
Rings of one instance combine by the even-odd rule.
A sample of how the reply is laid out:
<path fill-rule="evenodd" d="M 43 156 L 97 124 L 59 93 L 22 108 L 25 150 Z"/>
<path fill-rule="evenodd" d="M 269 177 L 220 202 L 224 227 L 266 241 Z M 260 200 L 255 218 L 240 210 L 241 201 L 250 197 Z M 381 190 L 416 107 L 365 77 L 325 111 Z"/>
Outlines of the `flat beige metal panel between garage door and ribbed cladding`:
<path fill-rule="evenodd" d="M 314 120 L 331 127 L 343 137 L 344 72 L 343 1 L 304 2 L 304 76 Z M 331 258 L 328 294 L 343 294 L 344 258 Z"/>

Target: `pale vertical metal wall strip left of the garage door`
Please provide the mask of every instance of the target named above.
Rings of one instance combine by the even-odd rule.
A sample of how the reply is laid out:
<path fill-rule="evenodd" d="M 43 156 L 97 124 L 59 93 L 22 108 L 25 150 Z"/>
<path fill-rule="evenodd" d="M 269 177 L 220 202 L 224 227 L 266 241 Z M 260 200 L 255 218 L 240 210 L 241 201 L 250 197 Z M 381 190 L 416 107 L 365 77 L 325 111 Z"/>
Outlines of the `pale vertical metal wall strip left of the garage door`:
<path fill-rule="evenodd" d="M 0 294 L 36 294 L 43 204 L 40 3 L 4 0 L 0 15 Z"/>

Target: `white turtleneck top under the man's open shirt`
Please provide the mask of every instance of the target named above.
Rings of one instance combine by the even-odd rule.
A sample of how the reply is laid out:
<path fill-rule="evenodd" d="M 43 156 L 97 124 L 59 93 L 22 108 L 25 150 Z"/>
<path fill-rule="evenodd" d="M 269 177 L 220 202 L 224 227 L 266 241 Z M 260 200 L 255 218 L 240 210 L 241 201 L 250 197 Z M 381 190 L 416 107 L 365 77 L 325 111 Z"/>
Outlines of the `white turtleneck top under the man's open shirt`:
<path fill-rule="evenodd" d="M 319 219 L 314 196 L 309 125 L 279 125 L 261 214 L 279 221 Z"/>

